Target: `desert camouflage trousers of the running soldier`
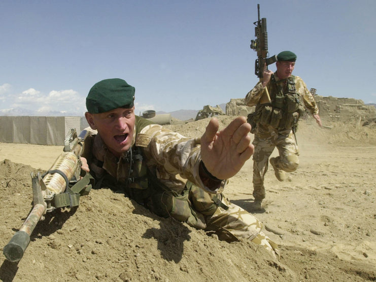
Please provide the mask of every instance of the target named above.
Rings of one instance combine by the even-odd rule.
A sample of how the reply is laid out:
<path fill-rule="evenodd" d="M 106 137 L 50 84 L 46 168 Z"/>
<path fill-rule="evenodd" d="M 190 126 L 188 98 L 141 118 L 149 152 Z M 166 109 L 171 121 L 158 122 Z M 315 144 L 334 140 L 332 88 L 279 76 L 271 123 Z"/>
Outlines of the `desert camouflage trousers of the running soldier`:
<path fill-rule="evenodd" d="M 253 153 L 253 197 L 256 200 L 265 198 L 264 177 L 268 169 L 271 153 L 277 147 L 279 157 L 276 158 L 277 168 L 286 172 L 295 171 L 299 164 L 299 151 L 292 132 L 288 136 L 276 132 L 261 138 L 255 135 L 252 144 L 255 146 Z"/>

